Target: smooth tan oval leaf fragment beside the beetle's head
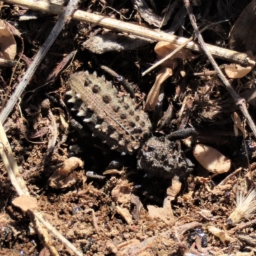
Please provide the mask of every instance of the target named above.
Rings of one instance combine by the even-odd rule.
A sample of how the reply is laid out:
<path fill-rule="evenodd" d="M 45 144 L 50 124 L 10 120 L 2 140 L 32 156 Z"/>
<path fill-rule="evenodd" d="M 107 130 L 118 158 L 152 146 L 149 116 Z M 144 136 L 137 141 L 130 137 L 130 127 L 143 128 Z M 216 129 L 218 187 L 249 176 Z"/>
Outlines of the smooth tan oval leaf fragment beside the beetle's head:
<path fill-rule="evenodd" d="M 197 144 L 193 148 L 195 159 L 209 172 L 225 173 L 231 166 L 231 161 L 220 151 L 203 144 Z"/>

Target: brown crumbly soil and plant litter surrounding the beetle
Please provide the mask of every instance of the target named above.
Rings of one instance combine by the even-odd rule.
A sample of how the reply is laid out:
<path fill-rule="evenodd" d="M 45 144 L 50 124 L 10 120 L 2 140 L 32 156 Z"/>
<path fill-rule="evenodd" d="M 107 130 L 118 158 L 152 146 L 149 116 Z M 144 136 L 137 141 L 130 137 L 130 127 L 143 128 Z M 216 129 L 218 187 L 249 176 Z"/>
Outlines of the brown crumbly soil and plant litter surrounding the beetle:
<path fill-rule="evenodd" d="M 156 28 L 143 20 L 145 17 L 141 18 L 132 1 L 121 2 L 83 1 L 78 9 Z M 154 9 L 150 2 L 147 1 L 148 8 Z M 169 1 L 158 2 L 154 13 L 160 17 L 166 12 Z M 173 26 L 184 5 L 182 1 L 176 2 L 170 20 L 161 29 L 175 28 L 175 35 L 189 38 L 193 28 L 188 15 L 180 18 L 179 26 Z M 203 33 L 208 44 L 229 47 L 230 30 L 249 1 L 231 2 L 228 4 L 232 8 L 221 0 L 194 3 L 193 13 L 200 28 L 228 19 Z M 20 20 L 21 15 L 29 13 L 36 19 Z M 11 83 L 13 69 L 1 68 L 0 103 L 3 108 L 58 17 L 12 4 L 2 6 L 0 15 L 21 35 L 22 40 L 15 36 L 17 56 L 22 52 L 22 41 L 24 44 Z M 102 54 L 95 54 L 84 46 L 89 38 L 106 33 L 108 29 L 70 20 L 37 68 L 22 95 L 20 108 L 16 105 L 4 124 L 20 175 L 31 196 L 36 198 L 39 211 L 84 255 L 253 255 L 255 212 L 244 213 L 236 225 L 230 225 L 230 221 L 228 224 L 227 220 L 236 208 L 237 191 L 246 195 L 254 188 L 255 141 L 247 126 L 244 136 L 241 131 L 236 136 L 232 115 L 236 111 L 242 120 L 243 115 L 221 86 L 220 79 L 194 75 L 213 70 L 203 53 L 193 52 L 196 58 L 177 60 L 173 76 L 162 85 L 161 107 L 148 115 L 156 136 L 194 127 L 198 143 L 218 149 L 231 160 L 227 173 L 211 179 L 212 173 L 196 161 L 192 148 L 181 141 L 180 150 L 190 159 L 193 168 L 173 179 L 151 177 L 137 169 L 136 154 L 121 156 L 93 137 L 86 125 L 83 124 L 83 129 L 72 125 L 72 118 L 80 123 L 83 119 L 71 111 L 72 104 L 67 102 L 70 97 L 65 93 L 71 74 L 82 70 L 90 74 L 97 72 L 97 76 L 113 81 L 120 97 L 128 97 L 124 86 L 102 65 L 111 68 L 131 83 L 136 103 L 143 107 L 157 72 L 161 70 L 157 67 L 141 77 L 141 72 L 157 59 L 156 42 L 140 47 L 129 45 L 133 49 L 112 49 Z M 237 45 L 236 51 L 239 51 Z M 216 61 L 218 65 L 227 63 Z M 186 75 L 182 76 L 182 72 Z M 250 72 L 241 79 L 233 79 L 234 90 L 238 94 L 250 93 L 254 76 L 255 73 Z M 164 114 L 170 109 L 169 117 L 172 118 L 166 118 Z M 253 101 L 248 104 L 248 110 L 256 120 Z M 49 152 L 54 138 L 56 143 Z M 71 167 L 65 169 L 63 164 L 70 157 L 77 157 L 83 163 L 78 164 L 78 160 L 73 159 L 76 163 L 73 161 Z M 12 204 L 17 193 L 4 164 L 0 164 L 0 255 L 50 255 L 28 214 Z M 231 175 L 233 172 L 235 174 Z M 212 227 L 218 230 L 212 231 Z M 74 255 L 52 234 L 51 239 L 60 255 Z"/>

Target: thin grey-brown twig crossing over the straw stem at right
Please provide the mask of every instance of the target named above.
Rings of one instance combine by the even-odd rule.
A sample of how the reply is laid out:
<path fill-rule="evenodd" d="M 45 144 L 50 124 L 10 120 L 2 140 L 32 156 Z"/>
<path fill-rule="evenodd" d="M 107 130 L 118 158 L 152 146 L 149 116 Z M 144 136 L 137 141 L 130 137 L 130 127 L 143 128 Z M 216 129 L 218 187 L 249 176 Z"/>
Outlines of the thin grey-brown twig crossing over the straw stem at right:
<path fill-rule="evenodd" d="M 252 120 L 250 114 L 248 113 L 248 109 L 246 108 L 245 100 L 243 98 L 239 97 L 239 95 L 237 95 L 237 93 L 232 88 L 231 84 L 228 82 L 228 79 L 221 72 L 220 67 L 218 67 L 216 61 L 212 57 L 211 52 L 209 52 L 209 49 L 208 49 L 207 45 L 205 44 L 204 39 L 202 38 L 202 35 L 200 34 L 200 31 L 198 30 L 198 27 L 196 25 L 196 19 L 192 13 L 192 8 L 189 3 L 189 0 L 184 0 L 184 4 L 187 8 L 189 19 L 190 19 L 193 29 L 195 31 L 196 38 L 198 39 L 198 42 L 202 47 L 202 50 L 204 51 L 206 56 L 211 61 L 212 67 L 214 68 L 214 70 L 216 70 L 216 72 L 217 72 L 218 76 L 220 77 L 221 81 L 223 82 L 224 86 L 227 88 L 228 92 L 232 96 L 234 102 L 236 103 L 236 105 L 238 106 L 240 111 L 243 113 L 244 118 L 248 122 L 250 128 L 252 129 L 253 135 L 256 138 L 256 127 L 255 127 L 255 124 L 253 123 L 253 120 Z"/>

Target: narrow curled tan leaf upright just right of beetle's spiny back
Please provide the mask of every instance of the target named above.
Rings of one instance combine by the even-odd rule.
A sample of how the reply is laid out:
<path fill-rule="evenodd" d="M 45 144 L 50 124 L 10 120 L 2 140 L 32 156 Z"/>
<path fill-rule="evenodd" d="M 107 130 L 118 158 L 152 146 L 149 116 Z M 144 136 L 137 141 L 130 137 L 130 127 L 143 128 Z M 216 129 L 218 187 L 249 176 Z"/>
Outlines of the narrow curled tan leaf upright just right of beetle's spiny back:
<path fill-rule="evenodd" d="M 161 84 L 163 84 L 168 77 L 172 76 L 172 74 L 172 68 L 162 68 L 158 72 L 156 76 L 156 81 L 152 86 L 150 92 L 148 93 L 145 110 L 153 111 L 155 109 L 159 97 Z"/>

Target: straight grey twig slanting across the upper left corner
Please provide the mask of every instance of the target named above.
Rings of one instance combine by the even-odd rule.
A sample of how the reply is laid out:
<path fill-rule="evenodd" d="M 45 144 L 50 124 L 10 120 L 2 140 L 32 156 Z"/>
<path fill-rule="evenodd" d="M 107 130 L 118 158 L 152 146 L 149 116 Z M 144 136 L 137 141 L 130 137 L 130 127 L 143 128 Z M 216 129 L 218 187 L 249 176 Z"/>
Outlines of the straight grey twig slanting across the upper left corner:
<path fill-rule="evenodd" d="M 15 89 L 15 92 L 8 100 L 8 103 L 6 104 L 6 107 L 1 111 L 0 114 L 0 120 L 2 123 L 6 120 L 10 112 L 12 111 L 13 107 L 17 103 L 17 100 L 19 100 L 19 97 L 21 96 L 22 92 L 26 88 L 27 84 L 29 83 L 31 77 L 35 73 L 36 68 L 43 60 L 45 54 L 49 51 L 49 48 L 59 35 L 60 31 L 63 29 L 65 24 L 70 20 L 70 15 L 72 12 L 74 12 L 76 8 L 78 0 L 70 0 L 67 7 L 65 8 L 64 12 L 61 12 L 60 19 L 56 22 L 54 28 L 52 29 L 50 35 L 45 40 L 42 47 L 37 52 L 35 59 L 32 61 L 31 65 L 28 67 L 28 70 L 26 71 L 26 74 L 22 77 L 20 83 L 18 84 L 17 88 Z"/>

